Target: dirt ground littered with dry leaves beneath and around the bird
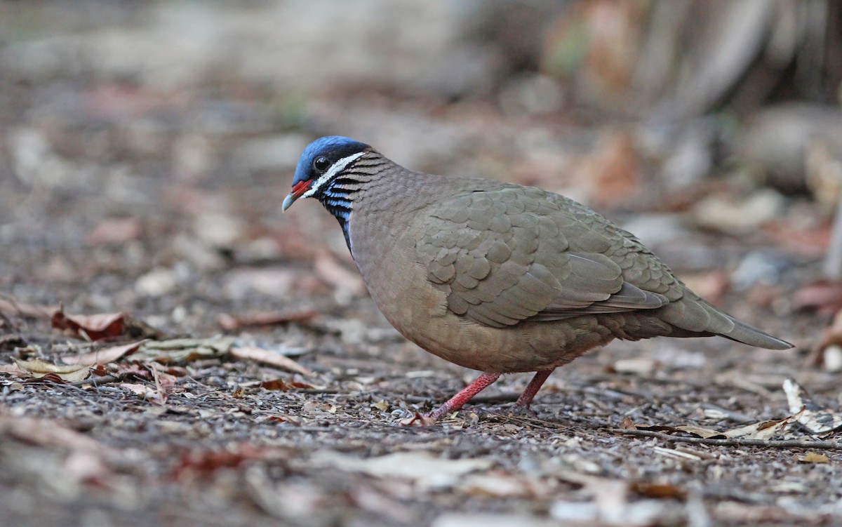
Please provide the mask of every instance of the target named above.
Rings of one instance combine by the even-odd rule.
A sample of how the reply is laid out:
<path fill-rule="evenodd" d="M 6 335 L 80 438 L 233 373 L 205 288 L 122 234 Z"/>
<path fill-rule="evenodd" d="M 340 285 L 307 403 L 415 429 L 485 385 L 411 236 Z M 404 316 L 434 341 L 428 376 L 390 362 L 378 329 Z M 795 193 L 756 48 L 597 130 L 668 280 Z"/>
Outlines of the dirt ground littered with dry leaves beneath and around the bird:
<path fill-rule="evenodd" d="M 727 165 L 675 187 L 647 130 L 512 118 L 484 99 L 296 102 L 221 73 L 162 89 L 10 63 L 0 523 L 842 524 L 838 436 L 795 421 L 727 434 L 791 416 L 790 378 L 838 418 L 839 373 L 809 359 L 838 302 L 803 301 L 830 223 L 812 197 Z M 611 343 L 557 370 L 534 415 L 509 415 L 529 375 L 506 375 L 460 413 L 404 426 L 477 372 L 388 325 L 320 205 L 281 215 L 301 147 L 333 133 L 411 168 L 569 190 L 796 349 Z M 584 176 L 561 174 L 573 168 Z"/>

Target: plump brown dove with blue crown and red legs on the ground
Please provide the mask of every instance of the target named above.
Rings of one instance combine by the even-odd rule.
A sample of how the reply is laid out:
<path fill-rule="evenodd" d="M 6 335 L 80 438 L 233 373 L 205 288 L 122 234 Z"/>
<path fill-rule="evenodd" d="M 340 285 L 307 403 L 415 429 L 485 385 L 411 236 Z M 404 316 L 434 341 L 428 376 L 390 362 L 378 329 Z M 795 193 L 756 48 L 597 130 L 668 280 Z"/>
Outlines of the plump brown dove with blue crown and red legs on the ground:
<path fill-rule="evenodd" d="M 535 374 L 512 407 L 528 412 L 553 370 L 614 339 L 718 335 L 792 347 L 712 306 L 631 232 L 560 194 L 417 172 L 363 142 L 325 136 L 301 153 L 281 210 L 301 198 L 338 220 L 399 333 L 481 372 L 425 414 L 430 423 L 517 372 Z"/>

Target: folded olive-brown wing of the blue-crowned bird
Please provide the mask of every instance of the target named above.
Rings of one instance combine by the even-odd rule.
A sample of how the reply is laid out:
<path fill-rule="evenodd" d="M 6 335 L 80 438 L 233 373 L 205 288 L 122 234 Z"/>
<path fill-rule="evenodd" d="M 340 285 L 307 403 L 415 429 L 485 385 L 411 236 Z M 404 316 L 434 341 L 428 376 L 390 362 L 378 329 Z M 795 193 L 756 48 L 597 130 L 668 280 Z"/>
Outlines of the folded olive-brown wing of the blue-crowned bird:
<path fill-rule="evenodd" d="M 491 327 L 666 305 L 624 277 L 623 264 L 639 266 L 634 250 L 612 258 L 626 243 L 619 228 L 603 232 L 594 221 L 607 220 L 569 204 L 513 186 L 430 205 L 418 259 L 450 311 Z"/>

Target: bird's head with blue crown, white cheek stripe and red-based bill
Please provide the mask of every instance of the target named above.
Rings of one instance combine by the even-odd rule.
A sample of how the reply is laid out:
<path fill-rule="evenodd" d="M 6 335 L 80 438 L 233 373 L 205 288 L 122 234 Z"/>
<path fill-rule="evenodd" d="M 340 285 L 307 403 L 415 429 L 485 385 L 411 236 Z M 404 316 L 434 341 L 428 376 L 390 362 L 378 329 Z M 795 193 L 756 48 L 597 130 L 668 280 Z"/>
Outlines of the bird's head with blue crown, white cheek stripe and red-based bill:
<path fill-rule="evenodd" d="M 298 158 L 292 192 L 286 196 L 281 210 L 289 209 L 299 198 L 318 196 L 344 168 L 370 148 L 365 143 L 342 136 L 320 137 L 312 141 Z"/>

